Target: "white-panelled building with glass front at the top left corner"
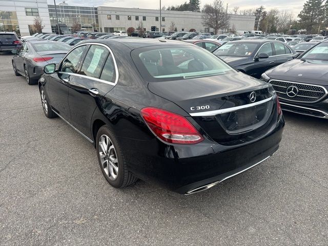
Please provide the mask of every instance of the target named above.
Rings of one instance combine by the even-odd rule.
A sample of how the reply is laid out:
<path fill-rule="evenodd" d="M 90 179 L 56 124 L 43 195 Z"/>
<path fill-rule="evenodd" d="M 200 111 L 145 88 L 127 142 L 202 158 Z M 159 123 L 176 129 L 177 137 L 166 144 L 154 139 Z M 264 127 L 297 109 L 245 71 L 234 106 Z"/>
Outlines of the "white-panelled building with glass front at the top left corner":
<path fill-rule="evenodd" d="M 0 31 L 30 35 L 36 16 L 42 19 L 43 31 L 51 32 L 47 0 L 0 0 Z"/>

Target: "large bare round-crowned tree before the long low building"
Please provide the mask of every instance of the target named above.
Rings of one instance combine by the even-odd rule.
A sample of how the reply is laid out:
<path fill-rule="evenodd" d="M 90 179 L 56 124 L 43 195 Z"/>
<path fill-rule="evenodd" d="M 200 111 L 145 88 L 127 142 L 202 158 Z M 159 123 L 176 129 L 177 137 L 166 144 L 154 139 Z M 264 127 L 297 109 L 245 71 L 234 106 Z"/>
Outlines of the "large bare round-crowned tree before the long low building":
<path fill-rule="evenodd" d="M 203 26 L 213 28 L 214 34 L 216 34 L 219 29 L 229 27 L 229 15 L 226 14 L 221 0 L 214 0 L 212 4 L 204 5 L 201 12 Z"/>

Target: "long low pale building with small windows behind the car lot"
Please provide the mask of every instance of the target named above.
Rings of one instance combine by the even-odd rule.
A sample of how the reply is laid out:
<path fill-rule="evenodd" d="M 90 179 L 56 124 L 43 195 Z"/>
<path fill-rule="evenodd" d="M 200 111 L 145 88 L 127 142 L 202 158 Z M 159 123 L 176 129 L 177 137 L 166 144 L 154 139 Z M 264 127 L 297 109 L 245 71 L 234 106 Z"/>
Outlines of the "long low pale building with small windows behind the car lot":
<path fill-rule="evenodd" d="M 197 32 L 211 32 L 201 24 L 201 13 L 191 11 L 161 11 L 161 29 L 159 10 L 138 9 L 138 8 L 116 8 L 100 6 L 98 10 L 99 27 L 104 32 L 114 32 L 127 30 L 129 27 L 137 28 L 142 26 L 144 30 L 151 30 L 152 26 L 156 31 L 189 31 L 195 29 Z M 229 15 L 230 26 L 227 31 L 234 30 L 253 30 L 255 16 L 250 15 Z M 173 30 L 172 30 L 173 29 Z M 219 30 L 224 32 L 225 30 Z"/>

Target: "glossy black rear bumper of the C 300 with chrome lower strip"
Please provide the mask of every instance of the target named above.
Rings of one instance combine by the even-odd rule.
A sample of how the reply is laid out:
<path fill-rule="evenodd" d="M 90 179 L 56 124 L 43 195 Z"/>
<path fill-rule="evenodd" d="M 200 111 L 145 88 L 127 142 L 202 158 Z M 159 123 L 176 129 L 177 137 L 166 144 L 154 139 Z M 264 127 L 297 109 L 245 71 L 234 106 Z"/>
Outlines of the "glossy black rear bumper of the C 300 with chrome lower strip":
<path fill-rule="evenodd" d="M 194 146 L 172 146 L 157 138 L 118 139 L 124 146 L 128 168 L 137 177 L 180 194 L 191 194 L 255 167 L 273 155 L 279 148 L 283 126 L 282 117 L 267 135 L 243 146 L 220 146 L 206 141 Z"/>

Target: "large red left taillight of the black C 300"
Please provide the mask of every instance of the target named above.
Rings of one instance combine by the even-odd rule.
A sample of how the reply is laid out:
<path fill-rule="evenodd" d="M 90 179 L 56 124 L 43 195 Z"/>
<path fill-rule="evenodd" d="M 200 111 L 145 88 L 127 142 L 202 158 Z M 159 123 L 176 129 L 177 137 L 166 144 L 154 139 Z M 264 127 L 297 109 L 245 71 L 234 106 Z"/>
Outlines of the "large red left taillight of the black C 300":
<path fill-rule="evenodd" d="M 141 109 L 141 115 L 155 135 L 166 142 L 192 145 L 204 140 L 196 128 L 181 115 L 157 108 Z"/>

